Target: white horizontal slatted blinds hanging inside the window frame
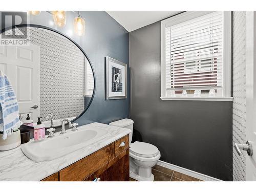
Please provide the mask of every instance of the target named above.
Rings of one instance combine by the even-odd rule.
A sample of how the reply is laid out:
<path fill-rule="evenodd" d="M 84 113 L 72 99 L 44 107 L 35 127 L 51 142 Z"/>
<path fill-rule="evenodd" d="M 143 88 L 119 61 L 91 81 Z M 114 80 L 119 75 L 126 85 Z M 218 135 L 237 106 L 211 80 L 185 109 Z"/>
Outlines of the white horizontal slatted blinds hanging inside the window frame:
<path fill-rule="evenodd" d="M 222 57 L 223 12 L 165 27 L 166 90 L 222 88 Z"/>

